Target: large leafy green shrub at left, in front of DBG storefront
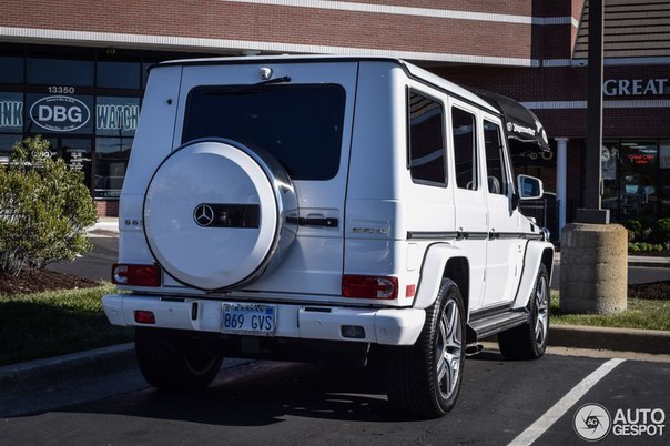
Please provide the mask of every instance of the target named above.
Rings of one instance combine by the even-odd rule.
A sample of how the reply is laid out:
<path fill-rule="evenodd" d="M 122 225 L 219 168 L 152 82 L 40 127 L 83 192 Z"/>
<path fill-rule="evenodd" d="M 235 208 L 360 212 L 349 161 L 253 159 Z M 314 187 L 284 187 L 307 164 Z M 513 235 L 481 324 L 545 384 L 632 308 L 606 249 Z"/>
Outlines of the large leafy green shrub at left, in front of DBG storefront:
<path fill-rule="evenodd" d="M 0 165 L 0 273 L 74 260 L 91 250 L 85 229 L 97 219 L 83 174 L 52 160 L 48 141 L 14 144 Z"/>

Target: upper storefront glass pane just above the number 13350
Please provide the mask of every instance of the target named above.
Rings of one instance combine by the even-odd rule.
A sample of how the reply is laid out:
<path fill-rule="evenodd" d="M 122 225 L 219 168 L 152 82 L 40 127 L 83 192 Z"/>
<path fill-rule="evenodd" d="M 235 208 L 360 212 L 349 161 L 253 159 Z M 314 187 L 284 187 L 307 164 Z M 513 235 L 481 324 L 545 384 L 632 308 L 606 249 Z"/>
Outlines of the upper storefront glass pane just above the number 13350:
<path fill-rule="evenodd" d="M 27 81 L 53 87 L 92 87 L 93 61 L 29 58 Z"/>

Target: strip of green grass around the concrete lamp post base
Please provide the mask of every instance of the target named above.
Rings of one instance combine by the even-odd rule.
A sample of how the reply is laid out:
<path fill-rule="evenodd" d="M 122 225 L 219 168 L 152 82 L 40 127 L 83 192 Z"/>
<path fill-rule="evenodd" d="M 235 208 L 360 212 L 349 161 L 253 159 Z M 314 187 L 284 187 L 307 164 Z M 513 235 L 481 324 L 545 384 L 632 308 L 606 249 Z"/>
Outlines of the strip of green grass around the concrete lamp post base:
<path fill-rule="evenodd" d="M 629 298 L 628 310 L 619 314 L 565 314 L 559 310 L 559 294 L 551 292 L 551 323 L 619 328 L 670 331 L 670 301 Z"/>

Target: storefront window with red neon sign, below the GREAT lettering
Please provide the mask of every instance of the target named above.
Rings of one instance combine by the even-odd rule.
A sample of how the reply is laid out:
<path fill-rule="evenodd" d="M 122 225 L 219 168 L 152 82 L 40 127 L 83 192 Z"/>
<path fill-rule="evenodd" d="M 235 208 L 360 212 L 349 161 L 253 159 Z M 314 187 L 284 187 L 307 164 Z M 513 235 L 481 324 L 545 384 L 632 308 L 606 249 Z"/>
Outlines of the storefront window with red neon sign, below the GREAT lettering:
<path fill-rule="evenodd" d="M 657 216 L 658 144 L 656 141 L 621 142 L 621 217 Z"/>

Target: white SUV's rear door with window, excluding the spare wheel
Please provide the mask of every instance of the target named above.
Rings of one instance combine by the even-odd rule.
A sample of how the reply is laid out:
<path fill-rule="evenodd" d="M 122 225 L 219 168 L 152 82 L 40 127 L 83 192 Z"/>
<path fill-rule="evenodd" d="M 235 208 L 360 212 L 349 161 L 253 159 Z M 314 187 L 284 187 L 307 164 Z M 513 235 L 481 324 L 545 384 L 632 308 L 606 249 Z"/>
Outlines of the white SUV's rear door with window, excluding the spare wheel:
<path fill-rule="evenodd" d="M 357 65 L 270 59 L 183 68 L 173 148 L 200 138 L 234 140 L 276 159 L 295 185 L 297 236 L 247 291 L 277 298 L 341 294 Z"/>

